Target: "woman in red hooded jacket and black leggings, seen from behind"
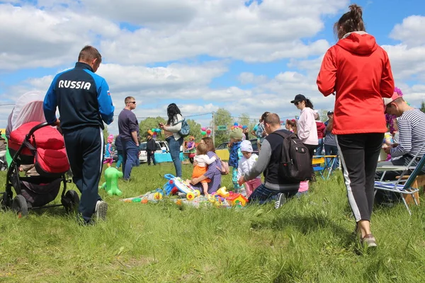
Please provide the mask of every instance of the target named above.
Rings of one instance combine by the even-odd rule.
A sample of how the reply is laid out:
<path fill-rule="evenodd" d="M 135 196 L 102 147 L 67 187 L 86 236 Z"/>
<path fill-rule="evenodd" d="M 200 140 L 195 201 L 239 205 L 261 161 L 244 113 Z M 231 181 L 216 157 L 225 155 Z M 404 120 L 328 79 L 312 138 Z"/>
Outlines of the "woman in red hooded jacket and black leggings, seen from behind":
<path fill-rule="evenodd" d="M 365 33 L 361 7 L 353 4 L 334 25 L 339 41 L 324 55 L 317 86 L 334 93 L 334 129 L 341 153 L 348 202 L 356 217 L 361 242 L 375 247 L 370 232 L 374 175 L 385 125 L 382 98 L 394 92 L 387 52 Z"/>

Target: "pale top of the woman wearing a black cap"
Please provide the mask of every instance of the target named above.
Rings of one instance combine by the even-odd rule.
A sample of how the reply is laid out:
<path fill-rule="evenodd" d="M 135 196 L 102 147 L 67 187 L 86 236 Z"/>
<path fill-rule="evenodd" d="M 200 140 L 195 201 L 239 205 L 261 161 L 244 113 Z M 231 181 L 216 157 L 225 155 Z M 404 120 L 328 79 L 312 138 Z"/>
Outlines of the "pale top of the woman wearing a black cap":
<path fill-rule="evenodd" d="M 310 107 L 306 107 L 301 111 L 300 118 L 297 120 L 297 136 L 303 144 L 319 144 L 316 117 L 317 112 Z"/>

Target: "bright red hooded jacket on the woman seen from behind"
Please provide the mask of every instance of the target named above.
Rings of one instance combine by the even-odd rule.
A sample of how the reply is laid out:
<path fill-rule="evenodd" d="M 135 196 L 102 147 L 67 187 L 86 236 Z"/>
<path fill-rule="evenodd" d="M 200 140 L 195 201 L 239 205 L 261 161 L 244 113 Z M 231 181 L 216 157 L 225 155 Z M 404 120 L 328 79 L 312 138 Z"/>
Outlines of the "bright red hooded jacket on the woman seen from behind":
<path fill-rule="evenodd" d="M 332 134 L 384 133 L 382 98 L 394 93 L 387 52 L 375 37 L 349 33 L 324 55 L 317 86 L 324 96 L 336 92 Z"/>

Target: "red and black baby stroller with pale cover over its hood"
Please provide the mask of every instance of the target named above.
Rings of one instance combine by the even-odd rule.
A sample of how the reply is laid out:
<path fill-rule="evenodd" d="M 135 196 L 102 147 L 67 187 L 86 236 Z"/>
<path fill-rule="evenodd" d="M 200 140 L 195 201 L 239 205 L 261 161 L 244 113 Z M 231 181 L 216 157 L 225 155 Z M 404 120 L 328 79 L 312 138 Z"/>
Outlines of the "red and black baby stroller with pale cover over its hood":
<path fill-rule="evenodd" d="M 74 190 L 67 191 L 65 173 L 69 162 L 62 134 L 45 122 L 42 110 L 44 96 L 29 92 L 18 98 L 8 117 L 6 137 L 8 151 L 13 156 L 6 175 L 6 191 L 0 193 L 1 207 L 11 208 L 18 216 L 29 209 L 64 206 L 67 212 L 79 204 Z M 21 166 L 33 167 L 33 174 L 19 175 Z M 28 171 L 29 172 L 29 171 Z M 62 204 L 49 204 L 57 197 L 63 183 Z M 13 197 L 13 191 L 16 196 Z"/>

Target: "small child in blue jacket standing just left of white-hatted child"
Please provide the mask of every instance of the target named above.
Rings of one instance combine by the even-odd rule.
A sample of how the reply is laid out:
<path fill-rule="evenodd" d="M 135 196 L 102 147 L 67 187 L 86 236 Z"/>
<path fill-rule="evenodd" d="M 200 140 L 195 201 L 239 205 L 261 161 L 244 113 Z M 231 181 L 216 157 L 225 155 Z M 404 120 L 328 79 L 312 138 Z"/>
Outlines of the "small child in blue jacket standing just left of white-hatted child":
<path fill-rule="evenodd" d="M 229 166 L 232 166 L 232 183 L 234 192 L 240 192 L 242 186 L 237 183 L 237 168 L 239 166 L 239 160 L 242 158 L 242 152 L 240 149 L 242 136 L 242 129 L 235 127 L 230 132 L 230 142 L 229 142 Z"/>

